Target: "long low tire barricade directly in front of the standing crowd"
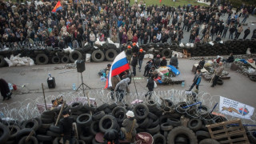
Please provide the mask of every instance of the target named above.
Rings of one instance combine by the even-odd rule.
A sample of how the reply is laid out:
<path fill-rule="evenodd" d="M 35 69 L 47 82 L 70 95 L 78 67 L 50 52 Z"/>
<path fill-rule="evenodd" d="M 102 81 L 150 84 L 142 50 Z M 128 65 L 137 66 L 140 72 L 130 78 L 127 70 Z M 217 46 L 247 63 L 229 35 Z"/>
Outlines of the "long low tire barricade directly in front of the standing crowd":
<path fill-rule="evenodd" d="M 214 56 L 214 55 L 227 55 L 233 54 L 246 54 L 247 48 L 250 48 L 251 53 L 256 52 L 256 40 L 255 39 L 234 39 L 228 40 L 224 43 L 213 42 L 213 46 L 210 43 L 197 43 L 194 47 L 180 47 L 177 44 L 169 43 L 148 43 L 140 46 L 146 54 L 160 54 L 162 57 L 170 58 L 172 51 L 182 52 L 186 49 L 188 53 L 194 56 Z M 132 43 L 128 42 L 127 45 L 132 46 Z M 6 48 L 7 47 L 7 48 Z M 64 50 L 58 47 L 47 46 L 44 42 L 14 42 L 14 43 L 0 43 L 0 67 L 6 66 L 6 62 L 3 58 L 10 58 L 11 54 L 21 54 L 21 57 L 30 57 L 34 59 L 36 64 L 45 65 L 47 63 L 67 63 L 74 62 L 78 59 L 82 59 L 83 54 L 91 54 L 91 59 L 94 62 L 114 61 L 114 58 L 122 50 L 126 50 L 127 46 L 116 47 L 112 43 L 104 43 L 94 46 L 86 45 L 82 48 L 74 49 L 70 53 L 64 52 Z"/>

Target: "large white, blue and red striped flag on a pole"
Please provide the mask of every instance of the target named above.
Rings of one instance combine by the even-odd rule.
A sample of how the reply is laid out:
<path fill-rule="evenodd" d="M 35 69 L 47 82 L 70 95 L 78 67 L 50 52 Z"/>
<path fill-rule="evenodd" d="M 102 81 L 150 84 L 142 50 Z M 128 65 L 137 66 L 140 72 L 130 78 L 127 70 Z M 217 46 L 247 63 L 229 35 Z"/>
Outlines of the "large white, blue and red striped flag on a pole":
<path fill-rule="evenodd" d="M 130 66 L 128 63 L 128 60 L 126 58 L 125 51 L 122 51 L 122 53 L 118 54 L 116 58 L 114 58 L 114 62 L 112 63 L 112 66 L 110 67 L 110 73 L 106 79 L 106 86 L 105 89 L 112 86 L 111 78 L 115 75 L 121 74 L 125 70 L 129 70 Z"/>

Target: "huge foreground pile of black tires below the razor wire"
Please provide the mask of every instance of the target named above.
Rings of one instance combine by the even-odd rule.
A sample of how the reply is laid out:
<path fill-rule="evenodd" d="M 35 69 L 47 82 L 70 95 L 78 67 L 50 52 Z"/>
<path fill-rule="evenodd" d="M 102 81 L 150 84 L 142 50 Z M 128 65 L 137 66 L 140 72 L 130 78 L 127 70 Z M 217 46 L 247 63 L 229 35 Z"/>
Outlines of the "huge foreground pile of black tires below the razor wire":
<path fill-rule="evenodd" d="M 186 107 L 188 105 L 187 102 L 174 105 L 168 99 L 161 104 L 149 101 L 134 106 L 103 103 L 91 107 L 82 102 L 74 102 L 70 106 L 65 105 L 63 110 L 70 111 L 78 127 L 79 138 L 75 143 L 94 144 L 97 143 L 95 134 L 109 129 L 120 130 L 128 110 L 134 112 L 138 122 L 137 132 L 150 133 L 155 143 L 218 143 L 210 139 L 206 125 L 224 122 L 226 118 L 210 114 L 207 106 Z M 3 120 L 0 122 L 0 143 L 26 143 L 30 135 L 29 143 L 58 144 L 62 134 L 60 126 L 55 126 L 59 112 L 60 108 L 46 110 L 39 117 L 23 122 Z M 183 121 L 184 118 L 187 121 Z M 254 134 L 250 134 L 249 138 L 254 142 Z"/>

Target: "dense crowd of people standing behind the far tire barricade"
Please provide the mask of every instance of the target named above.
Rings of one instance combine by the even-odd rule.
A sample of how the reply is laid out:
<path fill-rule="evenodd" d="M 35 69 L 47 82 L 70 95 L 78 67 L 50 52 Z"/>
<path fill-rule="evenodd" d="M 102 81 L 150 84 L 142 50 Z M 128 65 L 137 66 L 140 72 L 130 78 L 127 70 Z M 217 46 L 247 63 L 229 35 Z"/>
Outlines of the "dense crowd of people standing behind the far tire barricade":
<path fill-rule="evenodd" d="M 62 10 L 52 13 L 56 1 L 25 3 L 0 2 L 0 42 L 46 42 L 48 46 L 66 48 L 93 44 L 97 38 L 113 42 L 189 42 L 221 41 L 243 38 L 250 28 L 242 23 L 255 14 L 255 6 L 242 5 L 236 12 L 223 0 L 216 6 L 146 6 L 143 1 L 130 6 L 130 0 L 94 0 L 62 2 Z M 227 19 L 222 16 L 228 14 Z M 199 36 L 201 34 L 202 36 Z M 256 30 L 251 38 L 256 38 Z M 184 42 L 185 43 L 185 42 Z"/>

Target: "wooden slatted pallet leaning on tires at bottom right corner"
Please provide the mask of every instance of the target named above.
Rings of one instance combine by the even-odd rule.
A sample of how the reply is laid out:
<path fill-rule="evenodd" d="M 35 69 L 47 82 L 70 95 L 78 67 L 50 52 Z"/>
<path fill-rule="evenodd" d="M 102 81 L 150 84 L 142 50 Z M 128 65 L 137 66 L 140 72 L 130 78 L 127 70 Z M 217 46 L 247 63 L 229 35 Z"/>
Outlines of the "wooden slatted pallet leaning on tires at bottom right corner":
<path fill-rule="evenodd" d="M 220 143 L 250 144 L 240 119 L 214 123 L 206 127 L 209 130 L 210 137 Z"/>

